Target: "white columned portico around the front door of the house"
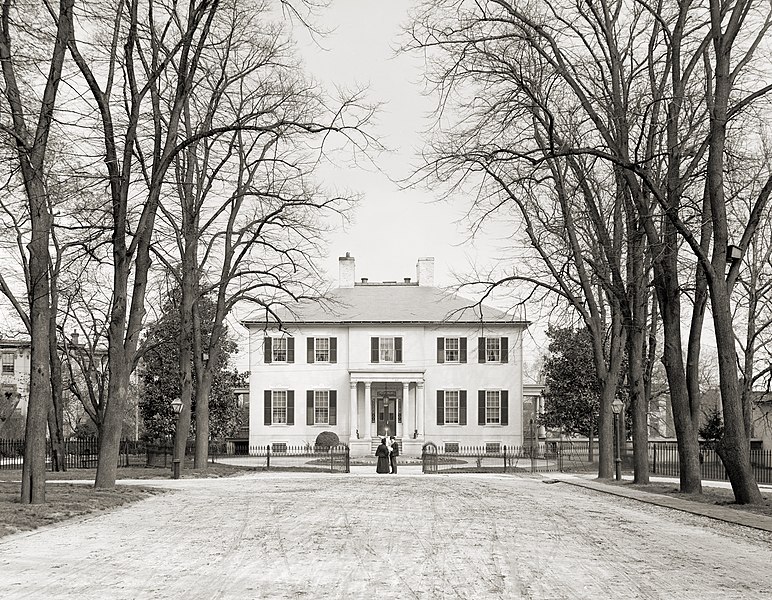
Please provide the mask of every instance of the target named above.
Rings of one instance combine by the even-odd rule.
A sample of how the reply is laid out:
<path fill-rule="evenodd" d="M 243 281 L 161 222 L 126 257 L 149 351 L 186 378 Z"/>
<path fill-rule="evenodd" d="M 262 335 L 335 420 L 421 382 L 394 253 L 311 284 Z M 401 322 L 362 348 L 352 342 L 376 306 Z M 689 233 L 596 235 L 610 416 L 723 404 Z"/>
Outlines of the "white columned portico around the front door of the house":
<path fill-rule="evenodd" d="M 369 455 L 373 440 L 393 435 L 403 451 L 424 438 L 423 371 L 349 371 L 349 440 L 352 455 Z"/>

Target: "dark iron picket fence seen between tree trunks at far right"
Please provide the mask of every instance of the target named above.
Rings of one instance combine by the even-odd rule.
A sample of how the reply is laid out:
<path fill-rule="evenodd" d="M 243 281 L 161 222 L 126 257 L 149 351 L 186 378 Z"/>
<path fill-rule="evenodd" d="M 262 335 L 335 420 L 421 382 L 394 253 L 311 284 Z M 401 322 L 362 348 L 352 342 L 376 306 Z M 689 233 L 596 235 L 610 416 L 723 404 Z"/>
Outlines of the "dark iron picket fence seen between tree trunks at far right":
<path fill-rule="evenodd" d="M 652 475 L 678 477 L 680 475 L 678 446 L 672 442 L 649 443 L 649 469 Z M 757 483 L 772 483 L 772 451 L 750 451 L 751 469 Z M 729 478 L 718 453 L 712 448 L 700 448 L 702 479 L 725 481 Z"/>

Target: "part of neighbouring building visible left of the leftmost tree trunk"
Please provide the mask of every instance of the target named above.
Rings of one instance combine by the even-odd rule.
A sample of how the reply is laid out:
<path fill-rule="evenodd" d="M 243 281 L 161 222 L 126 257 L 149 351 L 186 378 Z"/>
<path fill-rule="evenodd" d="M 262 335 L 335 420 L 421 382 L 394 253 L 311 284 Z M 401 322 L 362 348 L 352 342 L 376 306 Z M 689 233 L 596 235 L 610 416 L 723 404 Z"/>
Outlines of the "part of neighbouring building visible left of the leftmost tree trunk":
<path fill-rule="evenodd" d="M 0 438 L 24 436 L 29 373 L 29 341 L 0 340 Z"/>

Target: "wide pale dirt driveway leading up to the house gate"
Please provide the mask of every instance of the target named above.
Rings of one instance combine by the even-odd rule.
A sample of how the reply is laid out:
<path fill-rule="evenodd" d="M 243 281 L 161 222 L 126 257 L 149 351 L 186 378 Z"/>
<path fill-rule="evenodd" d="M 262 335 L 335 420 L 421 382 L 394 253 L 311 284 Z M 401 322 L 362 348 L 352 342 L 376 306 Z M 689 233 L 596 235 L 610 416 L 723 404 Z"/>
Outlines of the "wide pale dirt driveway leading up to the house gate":
<path fill-rule="evenodd" d="M 538 477 L 402 470 L 167 481 L 3 538 L 0 598 L 772 597 L 769 534 Z"/>

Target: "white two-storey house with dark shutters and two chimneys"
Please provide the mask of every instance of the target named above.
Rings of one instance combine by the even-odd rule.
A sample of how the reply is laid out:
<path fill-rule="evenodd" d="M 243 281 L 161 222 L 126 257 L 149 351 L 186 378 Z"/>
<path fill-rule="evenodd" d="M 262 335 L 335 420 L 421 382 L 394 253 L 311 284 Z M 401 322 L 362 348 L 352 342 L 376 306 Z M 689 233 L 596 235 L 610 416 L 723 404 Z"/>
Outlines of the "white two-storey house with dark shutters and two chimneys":
<path fill-rule="evenodd" d="M 302 303 L 284 328 L 250 330 L 250 447 L 313 444 L 334 431 L 352 455 L 395 435 L 405 454 L 523 443 L 524 321 L 434 287 L 434 259 L 417 281 L 355 282 L 341 257 L 330 302 Z"/>

